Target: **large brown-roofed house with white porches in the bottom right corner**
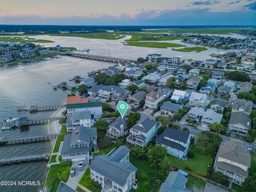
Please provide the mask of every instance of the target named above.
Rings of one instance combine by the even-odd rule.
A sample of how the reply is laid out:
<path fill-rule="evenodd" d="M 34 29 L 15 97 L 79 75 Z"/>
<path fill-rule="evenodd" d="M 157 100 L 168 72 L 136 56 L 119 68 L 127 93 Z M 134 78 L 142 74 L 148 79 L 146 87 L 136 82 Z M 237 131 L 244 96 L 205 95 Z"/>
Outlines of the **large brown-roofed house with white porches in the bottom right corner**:
<path fill-rule="evenodd" d="M 241 185 L 248 177 L 249 167 L 251 167 L 251 155 L 247 153 L 243 141 L 230 139 L 221 143 L 215 158 L 214 171 L 221 172 L 231 178 L 232 182 Z"/>

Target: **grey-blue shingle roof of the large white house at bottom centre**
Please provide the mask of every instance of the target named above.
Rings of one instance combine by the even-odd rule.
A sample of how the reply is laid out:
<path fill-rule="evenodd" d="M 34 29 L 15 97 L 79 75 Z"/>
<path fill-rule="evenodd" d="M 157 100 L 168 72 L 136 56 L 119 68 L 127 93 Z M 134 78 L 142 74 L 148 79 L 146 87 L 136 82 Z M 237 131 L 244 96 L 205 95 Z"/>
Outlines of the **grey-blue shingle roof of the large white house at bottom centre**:
<path fill-rule="evenodd" d="M 124 148 L 124 150 L 126 149 Z M 115 156 L 118 156 L 118 154 L 115 154 Z M 113 161 L 111 157 L 99 155 L 94 157 L 89 168 L 118 183 L 118 185 L 124 186 L 130 173 L 137 171 L 137 169 L 130 162 L 126 164 L 119 163 L 118 159 L 116 158 L 117 161 Z"/>

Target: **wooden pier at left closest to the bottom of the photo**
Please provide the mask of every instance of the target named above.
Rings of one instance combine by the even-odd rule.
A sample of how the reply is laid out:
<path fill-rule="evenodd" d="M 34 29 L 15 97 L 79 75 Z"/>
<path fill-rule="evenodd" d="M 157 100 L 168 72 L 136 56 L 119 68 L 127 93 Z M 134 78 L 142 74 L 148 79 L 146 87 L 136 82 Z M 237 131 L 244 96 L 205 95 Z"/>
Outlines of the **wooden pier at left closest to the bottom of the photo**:
<path fill-rule="evenodd" d="M 50 157 L 49 153 L 44 153 L 44 154 L 28 154 L 28 155 L 0 158 L 0 165 L 22 163 L 22 162 L 47 161 L 49 160 L 49 157 Z"/>

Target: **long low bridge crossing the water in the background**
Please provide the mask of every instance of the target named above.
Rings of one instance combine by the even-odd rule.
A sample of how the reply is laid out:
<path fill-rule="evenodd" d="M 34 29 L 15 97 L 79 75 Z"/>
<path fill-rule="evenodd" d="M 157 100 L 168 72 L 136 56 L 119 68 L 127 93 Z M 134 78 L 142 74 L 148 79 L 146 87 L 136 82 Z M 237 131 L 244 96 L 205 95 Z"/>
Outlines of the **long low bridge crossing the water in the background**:
<path fill-rule="evenodd" d="M 131 59 L 115 58 L 115 57 L 108 57 L 108 56 L 102 56 L 102 55 L 90 55 L 90 54 L 83 54 L 83 53 L 73 53 L 73 52 L 69 52 L 66 55 L 83 58 L 83 59 L 91 59 L 91 60 L 114 62 L 114 63 L 118 63 L 121 61 L 132 61 Z"/>

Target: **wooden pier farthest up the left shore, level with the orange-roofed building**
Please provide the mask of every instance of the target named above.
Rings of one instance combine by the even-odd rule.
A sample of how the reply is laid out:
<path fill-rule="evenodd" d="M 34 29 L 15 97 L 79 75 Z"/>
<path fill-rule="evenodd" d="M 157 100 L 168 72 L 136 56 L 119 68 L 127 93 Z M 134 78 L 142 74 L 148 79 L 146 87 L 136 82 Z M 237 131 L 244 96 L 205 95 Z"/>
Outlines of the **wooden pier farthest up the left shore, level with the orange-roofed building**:
<path fill-rule="evenodd" d="M 18 106 L 17 111 L 21 112 L 21 111 L 29 111 L 30 113 L 33 112 L 39 112 L 39 111 L 51 111 L 51 110 L 58 110 L 60 107 L 62 106 L 37 106 L 37 104 L 33 105 L 31 104 L 30 106 L 26 106 L 25 104 L 23 104 L 22 106 Z"/>

